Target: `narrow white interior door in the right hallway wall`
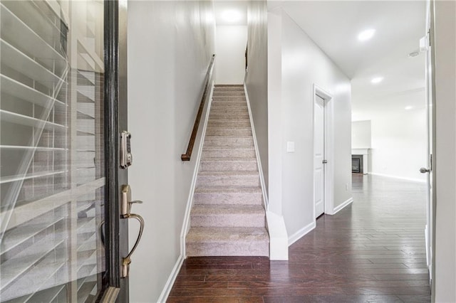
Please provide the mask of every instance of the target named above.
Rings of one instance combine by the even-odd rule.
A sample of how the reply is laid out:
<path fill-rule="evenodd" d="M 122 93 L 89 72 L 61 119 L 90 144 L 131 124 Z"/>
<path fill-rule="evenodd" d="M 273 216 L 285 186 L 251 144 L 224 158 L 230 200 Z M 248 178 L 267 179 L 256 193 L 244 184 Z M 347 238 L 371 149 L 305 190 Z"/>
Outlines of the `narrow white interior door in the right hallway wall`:
<path fill-rule="evenodd" d="M 315 95 L 314 105 L 314 203 L 315 218 L 324 212 L 325 201 L 325 100 Z"/>

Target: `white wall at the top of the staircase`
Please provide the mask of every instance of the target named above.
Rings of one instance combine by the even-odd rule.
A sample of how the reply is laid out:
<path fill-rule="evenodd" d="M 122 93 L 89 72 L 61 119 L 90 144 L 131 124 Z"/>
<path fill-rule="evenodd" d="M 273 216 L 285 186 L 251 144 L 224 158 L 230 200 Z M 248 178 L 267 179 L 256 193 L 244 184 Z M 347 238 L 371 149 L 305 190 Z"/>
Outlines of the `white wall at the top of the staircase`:
<path fill-rule="evenodd" d="M 215 38 L 215 82 L 242 84 L 245 75 L 247 26 L 217 25 Z"/>

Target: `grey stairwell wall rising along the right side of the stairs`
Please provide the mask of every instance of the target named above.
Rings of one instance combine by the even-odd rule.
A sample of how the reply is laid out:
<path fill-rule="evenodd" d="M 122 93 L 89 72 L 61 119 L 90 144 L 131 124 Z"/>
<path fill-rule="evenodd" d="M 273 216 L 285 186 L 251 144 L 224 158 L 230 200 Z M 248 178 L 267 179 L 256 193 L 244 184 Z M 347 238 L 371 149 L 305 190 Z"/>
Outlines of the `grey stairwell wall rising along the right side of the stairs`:
<path fill-rule="evenodd" d="M 248 72 L 245 80 L 257 136 L 259 160 L 268 186 L 268 28 L 266 1 L 250 1 L 247 14 Z"/>

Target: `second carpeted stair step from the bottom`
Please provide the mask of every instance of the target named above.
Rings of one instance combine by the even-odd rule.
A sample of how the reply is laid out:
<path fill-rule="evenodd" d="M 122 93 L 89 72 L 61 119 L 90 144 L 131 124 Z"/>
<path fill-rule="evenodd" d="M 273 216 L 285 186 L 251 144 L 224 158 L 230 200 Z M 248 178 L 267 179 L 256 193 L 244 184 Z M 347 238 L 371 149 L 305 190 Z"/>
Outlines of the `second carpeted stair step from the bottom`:
<path fill-rule="evenodd" d="M 261 205 L 198 204 L 190 213 L 191 227 L 264 227 Z"/>

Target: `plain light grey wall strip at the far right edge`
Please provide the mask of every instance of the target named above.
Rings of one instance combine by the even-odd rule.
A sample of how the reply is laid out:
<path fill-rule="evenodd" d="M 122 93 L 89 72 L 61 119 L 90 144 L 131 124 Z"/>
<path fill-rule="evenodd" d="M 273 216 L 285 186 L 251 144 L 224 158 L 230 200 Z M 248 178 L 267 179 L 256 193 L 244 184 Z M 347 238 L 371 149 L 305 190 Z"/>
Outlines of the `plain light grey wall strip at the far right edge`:
<path fill-rule="evenodd" d="M 435 1 L 435 302 L 456 302 L 456 4 Z"/>

